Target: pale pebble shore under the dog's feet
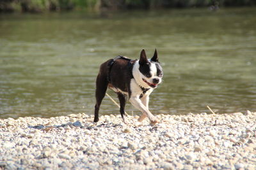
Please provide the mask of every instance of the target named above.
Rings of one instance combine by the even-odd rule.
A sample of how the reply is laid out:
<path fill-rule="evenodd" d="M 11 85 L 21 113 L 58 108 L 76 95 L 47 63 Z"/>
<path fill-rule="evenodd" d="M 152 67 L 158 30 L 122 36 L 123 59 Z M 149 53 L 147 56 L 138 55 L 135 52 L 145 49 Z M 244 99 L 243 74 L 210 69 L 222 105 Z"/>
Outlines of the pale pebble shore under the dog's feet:
<path fill-rule="evenodd" d="M 256 169 L 256 113 L 0 119 L 0 169 Z"/>

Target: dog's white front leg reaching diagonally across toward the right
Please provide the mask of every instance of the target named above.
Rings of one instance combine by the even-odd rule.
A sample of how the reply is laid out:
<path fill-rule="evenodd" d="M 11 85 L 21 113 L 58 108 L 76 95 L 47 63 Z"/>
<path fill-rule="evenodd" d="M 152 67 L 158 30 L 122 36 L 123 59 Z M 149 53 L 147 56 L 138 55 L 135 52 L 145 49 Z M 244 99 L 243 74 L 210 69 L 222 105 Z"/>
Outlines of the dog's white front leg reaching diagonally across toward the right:
<path fill-rule="evenodd" d="M 148 110 L 147 106 L 145 106 L 141 102 L 139 96 L 132 96 L 130 98 L 130 102 L 135 108 L 140 110 L 143 114 L 146 114 L 152 124 L 156 124 L 158 122 L 157 118 L 152 115 L 152 113 Z M 143 117 L 143 115 L 141 115 L 141 117 Z"/>

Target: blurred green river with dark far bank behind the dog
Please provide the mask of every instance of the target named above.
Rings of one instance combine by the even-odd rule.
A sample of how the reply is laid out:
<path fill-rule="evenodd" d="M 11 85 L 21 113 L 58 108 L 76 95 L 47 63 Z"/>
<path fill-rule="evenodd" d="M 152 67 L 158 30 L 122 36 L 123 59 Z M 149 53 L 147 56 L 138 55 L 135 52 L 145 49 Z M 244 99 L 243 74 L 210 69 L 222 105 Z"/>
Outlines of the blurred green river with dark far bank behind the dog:
<path fill-rule="evenodd" d="M 164 70 L 150 96 L 155 115 L 256 111 L 255 4 L 1 0 L 0 118 L 92 115 L 100 64 L 139 59 L 143 48 L 148 57 L 157 48 Z M 120 114 L 108 97 L 103 114 Z"/>

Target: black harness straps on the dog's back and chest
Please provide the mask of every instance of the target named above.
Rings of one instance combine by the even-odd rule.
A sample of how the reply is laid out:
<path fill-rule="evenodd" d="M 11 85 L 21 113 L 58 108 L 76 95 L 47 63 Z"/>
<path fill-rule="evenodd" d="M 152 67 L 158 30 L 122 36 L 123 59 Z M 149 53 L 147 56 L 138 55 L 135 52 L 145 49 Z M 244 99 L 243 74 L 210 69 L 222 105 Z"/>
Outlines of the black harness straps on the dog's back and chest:
<path fill-rule="evenodd" d="M 109 81 L 109 83 L 111 83 L 111 80 L 110 80 L 110 71 L 111 71 L 111 68 L 112 68 L 112 66 L 113 66 L 113 64 L 114 64 L 114 62 L 115 62 L 115 60 L 117 60 L 117 59 L 129 60 L 129 68 L 131 69 L 131 70 L 130 70 L 130 71 L 131 71 L 131 76 L 132 76 L 132 78 L 134 78 L 133 75 L 132 75 L 132 62 L 131 62 L 131 59 L 128 59 L 127 57 L 124 57 L 124 56 L 122 56 L 122 55 L 118 55 L 118 56 L 116 56 L 114 59 L 109 60 L 109 62 L 108 62 L 108 81 Z M 140 85 L 139 85 L 139 86 L 140 86 Z M 141 88 L 141 90 L 142 90 L 142 94 L 140 94 L 140 98 L 141 98 L 141 97 L 144 96 L 144 94 L 145 94 L 150 88 L 145 89 L 144 87 L 141 87 L 141 86 L 140 86 L 140 88 Z"/>

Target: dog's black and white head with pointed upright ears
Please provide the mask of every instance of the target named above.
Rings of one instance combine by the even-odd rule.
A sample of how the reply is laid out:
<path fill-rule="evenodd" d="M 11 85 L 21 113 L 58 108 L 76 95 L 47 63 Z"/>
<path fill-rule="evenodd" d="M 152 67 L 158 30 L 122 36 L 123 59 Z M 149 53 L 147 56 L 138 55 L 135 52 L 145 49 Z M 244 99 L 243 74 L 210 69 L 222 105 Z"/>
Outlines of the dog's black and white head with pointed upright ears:
<path fill-rule="evenodd" d="M 145 50 L 142 50 L 139 65 L 141 79 L 148 86 L 156 88 L 161 83 L 163 77 L 163 70 L 158 61 L 157 51 L 155 50 L 154 56 L 151 59 L 147 59 Z"/>

